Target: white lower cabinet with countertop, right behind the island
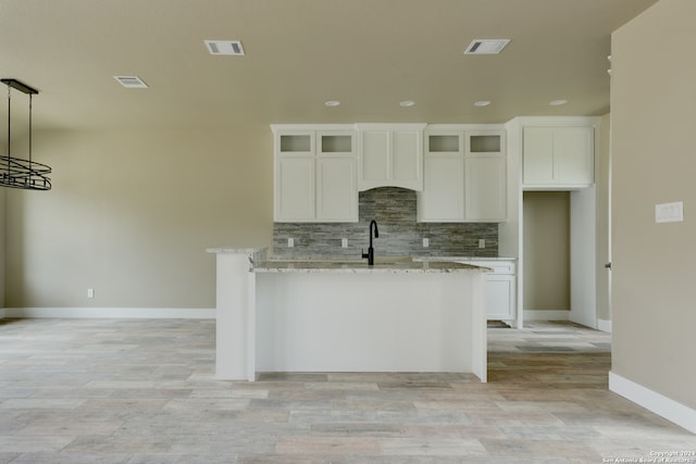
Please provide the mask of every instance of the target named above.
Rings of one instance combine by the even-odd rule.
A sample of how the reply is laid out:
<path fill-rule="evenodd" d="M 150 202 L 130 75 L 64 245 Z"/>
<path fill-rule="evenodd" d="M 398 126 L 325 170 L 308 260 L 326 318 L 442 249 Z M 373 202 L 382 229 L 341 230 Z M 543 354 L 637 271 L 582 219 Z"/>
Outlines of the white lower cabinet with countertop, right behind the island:
<path fill-rule="evenodd" d="M 481 260 L 459 261 L 474 266 L 488 267 L 487 316 L 488 319 L 512 322 L 517 318 L 517 276 L 514 261 Z"/>

